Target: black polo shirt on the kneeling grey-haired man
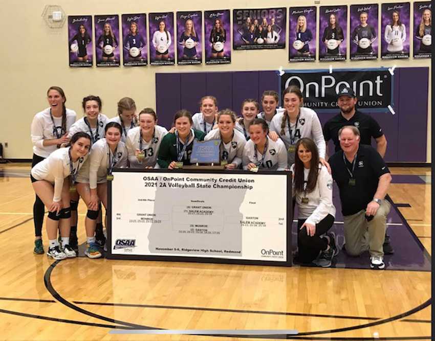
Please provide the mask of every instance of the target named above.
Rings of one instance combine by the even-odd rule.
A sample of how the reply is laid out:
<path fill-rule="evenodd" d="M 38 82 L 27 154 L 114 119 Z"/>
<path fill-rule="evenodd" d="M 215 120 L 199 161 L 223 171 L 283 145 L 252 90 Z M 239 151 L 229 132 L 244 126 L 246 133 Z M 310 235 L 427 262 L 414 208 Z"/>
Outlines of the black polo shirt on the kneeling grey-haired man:
<path fill-rule="evenodd" d="M 389 169 L 381 155 L 371 146 L 359 146 L 353 172 L 352 164 L 347 158 L 344 160 L 343 151 L 340 150 L 330 157 L 329 164 L 332 177 L 340 190 L 341 212 L 347 216 L 366 209 L 378 189 L 379 177 L 389 173 Z M 355 186 L 349 184 L 351 175 L 348 170 L 354 175 Z"/>

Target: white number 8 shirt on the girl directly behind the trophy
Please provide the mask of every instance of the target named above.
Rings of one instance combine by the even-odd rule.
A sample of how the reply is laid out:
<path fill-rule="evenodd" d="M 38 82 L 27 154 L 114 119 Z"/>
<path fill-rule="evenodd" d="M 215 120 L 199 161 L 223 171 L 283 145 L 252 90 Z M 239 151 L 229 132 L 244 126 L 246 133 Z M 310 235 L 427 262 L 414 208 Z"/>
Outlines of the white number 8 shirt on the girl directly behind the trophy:
<path fill-rule="evenodd" d="M 221 140 L 220 130 L 211 130 L 204 138 L 204 141 L 208 140 Z M 239 168 L 242 164 L 243 149 L 245 148 L 245 145 L 246 139 L 244 135 L 240 131 L 234 129 L 234 135 L 230 142 L 223 143 L 221 141 L 221 146 L 219 147 L 221 161 L 227 160 L 229 164 L 233 163 L 236 165 L 236 168 Z"/>

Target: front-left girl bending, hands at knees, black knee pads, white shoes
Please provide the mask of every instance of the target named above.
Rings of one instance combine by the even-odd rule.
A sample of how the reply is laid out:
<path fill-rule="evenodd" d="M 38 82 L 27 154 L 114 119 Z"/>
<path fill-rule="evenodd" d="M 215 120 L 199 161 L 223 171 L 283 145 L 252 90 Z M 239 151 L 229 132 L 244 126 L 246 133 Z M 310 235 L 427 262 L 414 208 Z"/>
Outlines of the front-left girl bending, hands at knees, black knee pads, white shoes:
<path fill-rule="evenodd" d="M 89 135 L 78 132 L 71 138 L 70 147 L 57 149 L 31 170 L 30 178 L 33 189 L 49 211 L 46 229 L 50 245 L 47 255 L 56 260 L 76 257 L 74 249 L 69 245 L 70 181 L 65 179 L 71 175 L 71 181 L 74 183 L 90 146 Z M 62 240 L 60 247 L 57 241 L 59 227 Z"/>

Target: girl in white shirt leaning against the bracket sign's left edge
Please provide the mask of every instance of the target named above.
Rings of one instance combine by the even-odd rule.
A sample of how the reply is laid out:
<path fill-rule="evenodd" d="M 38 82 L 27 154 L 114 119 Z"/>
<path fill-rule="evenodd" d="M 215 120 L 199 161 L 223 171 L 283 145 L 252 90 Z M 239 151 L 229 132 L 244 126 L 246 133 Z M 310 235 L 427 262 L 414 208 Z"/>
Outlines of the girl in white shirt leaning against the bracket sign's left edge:
<path fill-rule="evenodd" d="M 89 164 L 85 165 L 86 169 L 83 167 L 77 179 L 77 192 L 88 207 L 84 225 L 88 242 L 85 255 L 89 258 L 101 257 L 94 233 L 99 214 L 99 201 L 103 203 L 107 212 L 107 180 L 111 180 L 114 168 L 124 168 L 128 165 L 128 152 L 125 144 L 121 142 L 121 133 L 122 127 L 119 123 L 107 123 L 105 138 L 92 146 Z M 107 216 L 105 219 L 107 220 Z M 105 225 L 107 226 L 107 221 Z"/>

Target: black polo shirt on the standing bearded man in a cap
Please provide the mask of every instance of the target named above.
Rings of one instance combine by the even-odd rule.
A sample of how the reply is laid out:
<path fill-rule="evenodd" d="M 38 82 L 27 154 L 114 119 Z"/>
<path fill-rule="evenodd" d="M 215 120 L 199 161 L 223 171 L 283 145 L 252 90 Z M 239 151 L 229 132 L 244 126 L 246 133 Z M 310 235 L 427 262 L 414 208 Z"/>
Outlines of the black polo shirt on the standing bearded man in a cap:
<path fill-rule="evenodd" d="M 335 151 L 339 151 L 341 149 L 340 141 L 338 141 L 338 130 L 345 125 L 353 125 L 359 129 L 361 134 L 360 144 L 363 145 L 370 146 L 372 144 L 372 137 L 377 139 L 384 134 L 378 122 L 376 122 L 376 120 L 371 116 L 365 115 L 357 110 L 355 111 L 355 115 L 352 116 L 349 121 L 347 121 L 340 112 L 323 126 L 323 137 L 325 141 L 332 139 L 335 145 Z"/>

